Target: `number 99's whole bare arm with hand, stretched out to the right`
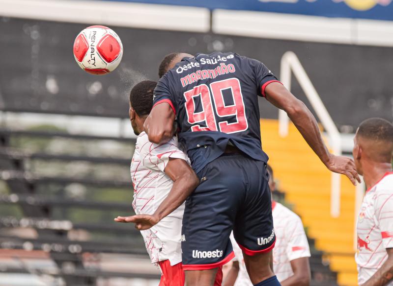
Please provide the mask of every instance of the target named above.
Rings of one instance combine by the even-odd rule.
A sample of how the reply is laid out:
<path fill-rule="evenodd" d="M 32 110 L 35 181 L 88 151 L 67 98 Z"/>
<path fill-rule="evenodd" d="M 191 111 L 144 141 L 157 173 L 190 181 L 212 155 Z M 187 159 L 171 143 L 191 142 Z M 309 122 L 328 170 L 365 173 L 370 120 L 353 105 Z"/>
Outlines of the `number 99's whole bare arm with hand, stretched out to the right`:
<path fill-rule="evenodd" d="M 346 175 L 356 185 L 360 177 L 352 159 L 331 154 L 322 140 L 318 124 L 307 106 L 292 95 L 282 84 L 272 82 L 265 88 L 266 99 L 284 110 L 311 149 L 329 170 Z"/>

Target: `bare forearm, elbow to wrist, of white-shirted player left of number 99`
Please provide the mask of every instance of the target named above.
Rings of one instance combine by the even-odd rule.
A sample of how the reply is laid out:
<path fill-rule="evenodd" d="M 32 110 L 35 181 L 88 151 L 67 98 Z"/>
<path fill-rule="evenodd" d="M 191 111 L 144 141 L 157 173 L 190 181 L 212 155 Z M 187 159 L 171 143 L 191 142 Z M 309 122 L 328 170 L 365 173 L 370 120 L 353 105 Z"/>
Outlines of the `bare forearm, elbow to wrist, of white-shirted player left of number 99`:
<path fill-rule="evenodd" d="M 159 221 L 181 206 L 182 203 L 197 188 L 199 180 L 195 173 L 186 173 L 173 182 L 172 189 L 168 196 L 155 211 L 155 216 Z"/>

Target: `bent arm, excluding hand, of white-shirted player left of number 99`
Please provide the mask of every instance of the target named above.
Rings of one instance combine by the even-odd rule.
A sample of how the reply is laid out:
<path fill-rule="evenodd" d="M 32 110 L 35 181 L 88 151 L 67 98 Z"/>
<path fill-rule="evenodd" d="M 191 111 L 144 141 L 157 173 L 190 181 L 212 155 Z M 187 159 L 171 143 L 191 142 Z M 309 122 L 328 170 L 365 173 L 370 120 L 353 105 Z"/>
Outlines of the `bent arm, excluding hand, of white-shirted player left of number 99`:
<path fill-rule="evenodd" d="M 164 171 L 173 181 L 173 186 L 168 196 L 153 214 L 159 220 L 177 209 L 199 184 L 199 179 L 194 170 L 183 159 L 169 158 Z"/>

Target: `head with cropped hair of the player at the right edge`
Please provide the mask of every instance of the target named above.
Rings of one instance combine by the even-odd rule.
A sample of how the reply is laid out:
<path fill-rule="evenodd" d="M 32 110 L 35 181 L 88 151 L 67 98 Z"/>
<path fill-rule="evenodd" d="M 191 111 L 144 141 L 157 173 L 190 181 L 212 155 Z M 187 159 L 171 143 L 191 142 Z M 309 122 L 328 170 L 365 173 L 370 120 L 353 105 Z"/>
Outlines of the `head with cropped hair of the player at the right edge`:
<path fill-rule="evenodd" d="M 362 165 L 363 159 L 364 162 L 390 164 L 392 162 L 392 153 L 392 123 L 381 118 L 371 118 L 363 121 L 355 136 L 353 152 L 355 163 Z"/>

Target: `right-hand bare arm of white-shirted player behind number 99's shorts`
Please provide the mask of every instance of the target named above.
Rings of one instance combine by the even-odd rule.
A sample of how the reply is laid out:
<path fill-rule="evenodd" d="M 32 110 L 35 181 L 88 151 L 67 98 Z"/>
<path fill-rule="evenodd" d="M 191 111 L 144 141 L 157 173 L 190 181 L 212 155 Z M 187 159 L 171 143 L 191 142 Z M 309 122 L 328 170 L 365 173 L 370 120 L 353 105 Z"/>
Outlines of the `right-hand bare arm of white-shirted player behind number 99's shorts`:
<path fill-rule="evenodd" d="M 281 286 L 309 286 L 311 281 L 310 263 L 308 257 L 291 261 L 293 275 L 284 281 Z"/>

